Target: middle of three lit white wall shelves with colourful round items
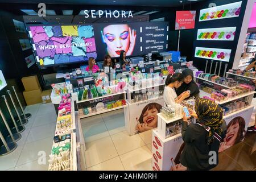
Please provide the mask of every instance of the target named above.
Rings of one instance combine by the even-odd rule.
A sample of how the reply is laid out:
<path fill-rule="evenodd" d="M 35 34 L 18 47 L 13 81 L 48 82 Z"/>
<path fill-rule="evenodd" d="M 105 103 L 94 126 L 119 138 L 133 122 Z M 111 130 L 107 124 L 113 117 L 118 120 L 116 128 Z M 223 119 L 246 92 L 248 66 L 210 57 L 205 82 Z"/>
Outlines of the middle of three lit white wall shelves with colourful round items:
<path fill-rule="evenodd" d="M 197 30 L 197 40 L 234 40 L 237 27 L 206 28 Z"/>

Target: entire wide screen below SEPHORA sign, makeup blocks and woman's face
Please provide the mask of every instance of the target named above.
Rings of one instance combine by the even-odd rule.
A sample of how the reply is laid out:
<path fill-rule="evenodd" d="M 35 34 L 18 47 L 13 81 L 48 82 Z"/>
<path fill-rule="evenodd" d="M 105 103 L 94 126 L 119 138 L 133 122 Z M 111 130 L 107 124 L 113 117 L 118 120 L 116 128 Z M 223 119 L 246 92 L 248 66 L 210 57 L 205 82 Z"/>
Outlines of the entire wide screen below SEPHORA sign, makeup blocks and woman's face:
<path fill-rule="evenodd" d="M 85 62 L 89 57 L 103 60 L 167 50 L 168 23 L 143 22 L 119 24 L 83 24 L 30 26 L 36 60 L 41 66 Z"/>

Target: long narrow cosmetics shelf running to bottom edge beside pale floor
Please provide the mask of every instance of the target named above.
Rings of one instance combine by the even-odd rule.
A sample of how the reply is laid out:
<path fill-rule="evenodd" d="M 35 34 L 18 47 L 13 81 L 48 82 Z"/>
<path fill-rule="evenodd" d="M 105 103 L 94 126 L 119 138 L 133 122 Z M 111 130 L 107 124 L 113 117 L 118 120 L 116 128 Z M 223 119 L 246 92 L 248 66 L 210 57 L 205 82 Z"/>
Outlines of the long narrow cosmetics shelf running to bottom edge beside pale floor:
<path fill-rule="evenodd" d="M 58 107 L 55 137 L 51 155 L 49 155 L 49 171 L 68 171 L 76 169 L 76 129 L 75 118 L 72 114 L 74 107 L 71 95 L 61 96 Z M 75 158 L 75 159 L 73 159 Z"/>

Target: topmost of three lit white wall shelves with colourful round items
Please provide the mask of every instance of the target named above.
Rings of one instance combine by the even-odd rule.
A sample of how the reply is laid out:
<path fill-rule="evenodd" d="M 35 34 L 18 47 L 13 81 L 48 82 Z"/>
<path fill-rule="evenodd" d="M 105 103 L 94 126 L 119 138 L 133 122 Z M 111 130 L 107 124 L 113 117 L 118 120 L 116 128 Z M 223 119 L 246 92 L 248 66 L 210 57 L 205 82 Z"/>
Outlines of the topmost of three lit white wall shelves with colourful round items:
<path fill-rule="evenodd" d="M 200 10 L 199 22 L 236 18 L 240 15 L 242 1 Z"/>

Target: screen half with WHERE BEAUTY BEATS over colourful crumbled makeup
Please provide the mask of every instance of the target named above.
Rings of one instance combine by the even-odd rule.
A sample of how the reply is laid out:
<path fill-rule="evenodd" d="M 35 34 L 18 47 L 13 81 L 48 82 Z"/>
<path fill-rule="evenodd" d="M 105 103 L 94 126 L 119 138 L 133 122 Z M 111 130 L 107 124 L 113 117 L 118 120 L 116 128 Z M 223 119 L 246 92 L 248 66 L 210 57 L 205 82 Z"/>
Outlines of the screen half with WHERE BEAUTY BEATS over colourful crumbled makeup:
<path fill-rule="evenodd" d="M 31 26 L 36 60 L 41 66 L 87 61 L 97 57 L 92 25 Z"/>

